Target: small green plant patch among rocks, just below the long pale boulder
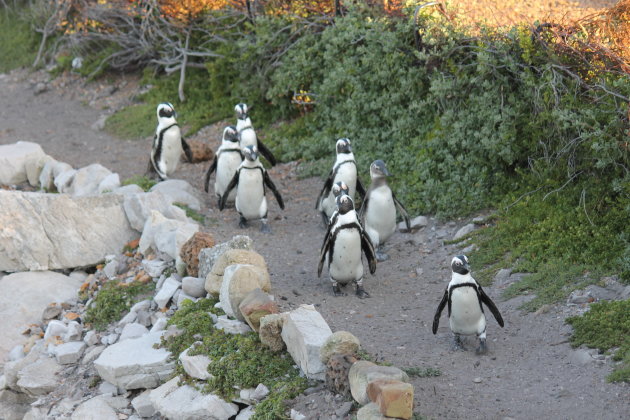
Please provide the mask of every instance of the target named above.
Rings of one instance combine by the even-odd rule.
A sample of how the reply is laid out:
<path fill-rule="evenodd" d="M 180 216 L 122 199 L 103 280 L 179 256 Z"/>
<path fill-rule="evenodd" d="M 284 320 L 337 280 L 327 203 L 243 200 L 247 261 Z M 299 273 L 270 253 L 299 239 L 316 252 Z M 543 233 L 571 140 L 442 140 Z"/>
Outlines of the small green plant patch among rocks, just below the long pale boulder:
<path fill-rule="evenodd" d="M 120 319 L 122 314 L 155 288 L 153 283 L 143 284 L 137 281 L 132 283 L 118 283 L 108 281 L 101 287 L 88 307 L 85 315 L 85 323 L 91 324 L 96 330 L 104 330 L 107 326 Z"/>

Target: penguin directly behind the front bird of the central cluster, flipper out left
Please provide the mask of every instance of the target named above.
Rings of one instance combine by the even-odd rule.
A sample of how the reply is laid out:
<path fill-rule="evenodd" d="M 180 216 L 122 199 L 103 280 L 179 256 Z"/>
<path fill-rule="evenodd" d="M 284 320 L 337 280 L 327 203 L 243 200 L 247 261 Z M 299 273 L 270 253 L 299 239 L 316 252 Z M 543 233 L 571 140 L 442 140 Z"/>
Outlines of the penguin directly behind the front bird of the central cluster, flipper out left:
<path fill-rule="evenodd" d="M 365 188 L 357 176 L 357 165 L 352 154 L 352 146 L 350 140 L 341 138 L 337 140 L 335 145 L 337 158 L 332 170 L 328 174 L 328 178 L 324 182 L 324 186 L 317 196 L 315 208 L 322 214 L 324 226 L 328 226 L 330 217 L 335 211 L 335 197 L 331 191 L 334 183 L 343 181 L 348 185 L 348 195 L 354 200 L 355 190 L 359 192 L 361 198 L 365 197 Z"/>

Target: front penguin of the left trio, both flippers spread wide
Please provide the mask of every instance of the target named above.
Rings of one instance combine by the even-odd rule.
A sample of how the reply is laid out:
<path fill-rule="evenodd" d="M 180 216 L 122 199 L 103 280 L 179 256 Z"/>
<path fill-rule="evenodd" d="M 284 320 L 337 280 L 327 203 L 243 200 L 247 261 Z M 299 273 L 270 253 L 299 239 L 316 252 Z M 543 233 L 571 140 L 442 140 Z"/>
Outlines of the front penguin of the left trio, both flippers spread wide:
<path fill-rule="evenodd" d="M 243 156 L 245 156 L 245 159 L 219 199 L 219 210 L 225 208 L 230 191 L 236 187 L 236 211 L 241 216 L 239 226 L 245 228 L 248 220 L 260 219 L 262 221 L 261 232 L 271 233 L 271 229 L 267 224 L 265 187 L 269 187 L 282 210 L 284 210 L 284 201 L 282 201 L 282 196 L 280 196 L 276 186 L 269 178 L 269 174 L 260 163 L 256 146 L 245 147 Z"/>

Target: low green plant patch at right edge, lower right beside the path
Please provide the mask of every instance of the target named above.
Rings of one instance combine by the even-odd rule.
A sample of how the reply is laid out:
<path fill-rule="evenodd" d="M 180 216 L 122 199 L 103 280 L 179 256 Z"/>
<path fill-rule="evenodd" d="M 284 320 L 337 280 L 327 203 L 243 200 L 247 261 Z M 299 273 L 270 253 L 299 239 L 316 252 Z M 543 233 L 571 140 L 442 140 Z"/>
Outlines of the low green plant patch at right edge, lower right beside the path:
<path fill-rule="evenodd" d="M 566 322 L 573 327 L 574 347 L 586 344 L 600 352 L 614 349 L 613 360 L 621 364 L 609 381 L 630 382 L 630 300 L 594 303 L 584 315 Z"/>

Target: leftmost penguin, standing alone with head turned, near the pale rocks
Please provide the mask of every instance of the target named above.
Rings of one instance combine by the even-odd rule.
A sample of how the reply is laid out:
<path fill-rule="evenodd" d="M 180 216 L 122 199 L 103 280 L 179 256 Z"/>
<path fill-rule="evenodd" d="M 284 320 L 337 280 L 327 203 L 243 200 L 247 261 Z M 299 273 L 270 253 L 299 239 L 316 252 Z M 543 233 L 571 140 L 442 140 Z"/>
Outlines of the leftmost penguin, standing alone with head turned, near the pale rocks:
<path fill-rule="evenodd" d="M 177 113 L 170 102 L 162 102 L 157 107 L 158 126 L 153 137 L 149 172 L 154 172 L 161 180 L 168 179 L 179 165 L 182 152 L 192 162 L 192 151 L 182 137 L 175 121 Z"/>

